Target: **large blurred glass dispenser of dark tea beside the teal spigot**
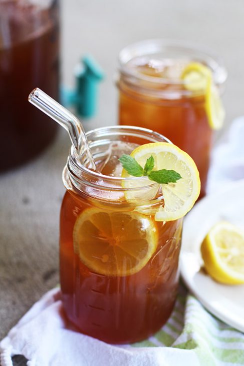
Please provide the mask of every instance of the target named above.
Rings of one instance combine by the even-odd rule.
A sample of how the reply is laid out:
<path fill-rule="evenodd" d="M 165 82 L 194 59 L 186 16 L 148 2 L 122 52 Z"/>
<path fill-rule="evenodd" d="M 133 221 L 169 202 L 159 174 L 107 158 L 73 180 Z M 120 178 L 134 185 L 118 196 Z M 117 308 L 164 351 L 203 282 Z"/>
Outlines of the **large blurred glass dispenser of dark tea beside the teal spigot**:
<path fill-rule="evenodd" d="M 57 131 L 57 124 L 28 103 L 28 95 L 39 86 L 59 99 L 59 1 L 0 0 L 0 25 L 3 171 L 36 156 Z"/>

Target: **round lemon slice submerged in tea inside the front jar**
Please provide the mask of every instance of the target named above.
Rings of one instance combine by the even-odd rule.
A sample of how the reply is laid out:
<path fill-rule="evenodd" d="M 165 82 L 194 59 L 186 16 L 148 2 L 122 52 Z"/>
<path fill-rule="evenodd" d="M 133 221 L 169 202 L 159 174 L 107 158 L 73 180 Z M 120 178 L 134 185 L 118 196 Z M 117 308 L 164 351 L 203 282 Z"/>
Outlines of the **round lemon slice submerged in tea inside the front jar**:
<path fill-rule="evenodd" d="M 73 229 L 74 250 L 93 272 L 128 276 L 152 257 L 158 241 L 152 220 L 137 212 L 105 212 L 88 208 Z"/>

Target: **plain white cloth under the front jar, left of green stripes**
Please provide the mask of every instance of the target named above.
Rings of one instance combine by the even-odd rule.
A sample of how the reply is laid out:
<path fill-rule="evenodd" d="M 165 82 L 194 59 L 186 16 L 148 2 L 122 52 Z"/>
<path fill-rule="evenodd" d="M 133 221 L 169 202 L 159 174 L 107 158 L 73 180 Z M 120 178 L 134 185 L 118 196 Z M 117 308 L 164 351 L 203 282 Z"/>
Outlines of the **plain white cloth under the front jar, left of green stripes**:
<path fill-rule="evenodd" d="M 111 345 L 81 334 L 64 315 L 60 290 L 47 292 L 1 342 L 1 365 L 23 354 L 28 366 L 198 366 L 192 350 Z"/>

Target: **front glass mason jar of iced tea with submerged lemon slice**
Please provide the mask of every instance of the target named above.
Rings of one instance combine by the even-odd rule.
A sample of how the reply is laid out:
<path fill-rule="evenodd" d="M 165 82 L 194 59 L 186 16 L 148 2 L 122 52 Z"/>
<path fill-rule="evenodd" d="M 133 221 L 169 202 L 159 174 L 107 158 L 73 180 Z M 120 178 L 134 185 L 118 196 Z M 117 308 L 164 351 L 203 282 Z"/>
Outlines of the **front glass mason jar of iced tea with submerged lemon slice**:
<path fill-rule="evenodd" d="M 99 172 L 87 166 L 86 151 L 78 160 L 71 148 L 63 173 L 62 300 L 83 333 L 109 343 L 135 342 L 157 331 L 173 309 L 182 218 L 156 222 L 152 213 L 162 205 L 162 193 L 148 200 L 155 182 L 147 177 L 128 188 L 138 178 L 122 178 L 118 159 L 138 145 L 168 140 L 126 126 L 93 130 L 87 138 Z M 128 200 L 130 191 L 140 200 Z"/>

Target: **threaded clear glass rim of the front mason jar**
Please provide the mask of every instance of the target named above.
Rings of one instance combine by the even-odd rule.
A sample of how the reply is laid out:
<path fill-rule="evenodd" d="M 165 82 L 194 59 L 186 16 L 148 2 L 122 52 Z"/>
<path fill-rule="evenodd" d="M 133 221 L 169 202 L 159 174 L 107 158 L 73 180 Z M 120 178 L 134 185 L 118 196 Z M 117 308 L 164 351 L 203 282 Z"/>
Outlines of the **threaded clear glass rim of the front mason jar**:
<path fill-rule="evenodd" d="M 117 133 L 116 133 L 117 132 Z M 109 126 L 109 127 L 100 127 L 100 128 L 96 128 L 93 129 L 91 131 L 88 131 L 86 133 L 87 139 L 88 139 L 88 143 L 89 146 L 92 146 L 92 142 L 96 143 L 96 141 L 102 141 L 102 138 L 106 138 L 106 136 L 134 136 L 134 137 L 141 137 L 143 139 L 147 139 L 148 142 L 167 142 L 171 144 L 171 141 L 169 139 L 167 139 L 166 137 L 164 137 L 163 135 L 154 132 L 153 130 L 149 130 L 146 128 L 142 128 L 142 127 L 136 127 L 136 126 Z M 96 137 L 97 139 L 100 140 L 94 140 L 94 137 Z M 104 140 L 105 141 L 105 140 Z M 108 141 L 108 140 L 106 140 Z M 120 140 L 118 140 L 120 141 Z M 96 145 L 95 145 L 96 146 Z M 83 150 L 83 154 L 85 154 L 85 150 Z M 138 187 L 136 188 L 123 188 L 121 186 L 121 182 L 123 181 L 138 181 L 140 180 L 141 182 L 145 182 L 145 185 L 142 185 L 140 188 L 149 188 L 149 187 L 153 187 L 156 185 L 155 182 L 151 182 L 148 185 L 148 178 L 146 176 L 144 177 L 129 177 L 129 178 L 123 178 L 123 177 L 114 177 L 114 176 L 108 176 L 108 175 L 104 175 L 101 174 L 99 172 L 95 172 L 91 169 L 89 169 L 88 167 L 86 167 L 85 165 L 83 165 L 81 162 L 79 162 L 79 160 L 77 159 L 77 154 L 76 154 L 76 150 L 73 146 L 71 146 L 70 149 L 70 155 L 68 157 L 68 162 L 67 162 L 67 166 L 65 167 L 65 169 L 68 169 L 69 174 L 72 176 L 73 180 L 80 182 L 83 180 L 82 177 L 86 176 L 86 184 L 88 186 L 91 187 L 96 187 L 98 188 L 98 184 L 96 184 L 96 182 L 98 181 L 98 179 L 104 182 L 110 182 L 111 185 L 109 186 L 101 186 L 99 185 L 100 188 L 105 189 L 105 190 L 117 190 L 117 191 L 135 191 L 138 190 Z M 147 184 L 146 184 L 147 181 Z M 116 184 L 118 186 L 116 186 Z"/>

